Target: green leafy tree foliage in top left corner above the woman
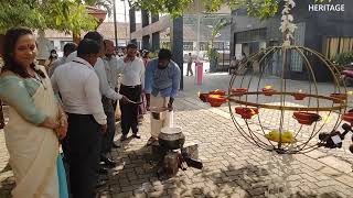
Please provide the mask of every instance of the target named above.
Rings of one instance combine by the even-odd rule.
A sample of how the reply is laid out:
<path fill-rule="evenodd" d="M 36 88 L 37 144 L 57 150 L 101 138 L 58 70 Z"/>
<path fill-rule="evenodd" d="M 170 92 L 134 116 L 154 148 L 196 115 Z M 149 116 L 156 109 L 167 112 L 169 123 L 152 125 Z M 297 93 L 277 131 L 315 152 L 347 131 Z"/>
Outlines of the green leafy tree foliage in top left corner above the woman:
<path fill-rule="evenodd" d="M 11 0 L 0 2 L 0 32 L 13 26 L 53 29 L 79 34 L 94 30 L 97 21 L 74 0 Z"/>

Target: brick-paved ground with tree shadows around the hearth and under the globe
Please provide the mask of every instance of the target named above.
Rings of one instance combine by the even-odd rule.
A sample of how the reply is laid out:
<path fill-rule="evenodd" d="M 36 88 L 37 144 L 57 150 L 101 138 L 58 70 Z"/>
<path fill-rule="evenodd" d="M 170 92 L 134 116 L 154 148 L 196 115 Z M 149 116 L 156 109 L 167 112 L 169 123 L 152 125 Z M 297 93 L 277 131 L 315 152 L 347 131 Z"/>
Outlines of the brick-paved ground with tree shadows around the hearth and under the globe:
<path fill-rule="evenodd" d="M 320 148 L 292 158 L 272 155 L 245 141 L 235 130 L 228 108 L 210 108 L 195 98 L 197 90 L 226 88 L 227 76 L 208 76 L 203 86 L 185 78 L 185 90 L 175 101 L 175 124 L 186 142 L 199 143 L 203 170 L 179 170 L 169 178 L 158 174 L 146 146 L 149 119 L 141 125 L 141 140 L 129 139 L 111 155 L 118 166 L 109 172 L 99 197 L 353 197 L 353 154 L 344 150 Z M 211 82 L 212 81 L 212 82 Z M 265 120 L 276 113 L 266 113 Z M 270 124 L 269 122 L 268 124 Z M 118 136 L 117 136 L 118 138 Z M 349 138 L 347 138 L 349 139 Z M 346 140 L 345 145 L 350 140 Z M 8 154 L 0 132 L 0 197 L 9 196 L 13 185 L 6 168 Z M 284 179 L 286 177 L 286 179 Z"/>

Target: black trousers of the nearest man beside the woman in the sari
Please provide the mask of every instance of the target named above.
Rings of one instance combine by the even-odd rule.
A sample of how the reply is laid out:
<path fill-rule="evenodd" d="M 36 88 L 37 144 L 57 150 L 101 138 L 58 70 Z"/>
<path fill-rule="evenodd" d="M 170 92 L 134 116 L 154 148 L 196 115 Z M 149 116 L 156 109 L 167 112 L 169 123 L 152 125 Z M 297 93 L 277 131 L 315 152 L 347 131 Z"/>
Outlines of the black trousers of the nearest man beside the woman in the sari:
<path fill-rule="evenodd" d="M 69 186 L 73 198 L 95 198 L 101 128 L 93 116 L 68 113 Z"/>

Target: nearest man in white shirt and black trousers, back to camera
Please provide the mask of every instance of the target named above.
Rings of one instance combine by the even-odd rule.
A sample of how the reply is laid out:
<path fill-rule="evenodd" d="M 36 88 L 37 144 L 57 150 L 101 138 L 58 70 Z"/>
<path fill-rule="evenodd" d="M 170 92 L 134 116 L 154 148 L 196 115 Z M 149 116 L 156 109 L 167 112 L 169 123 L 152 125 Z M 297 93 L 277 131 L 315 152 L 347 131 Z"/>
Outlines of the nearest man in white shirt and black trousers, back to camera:
<path fill-rule="evenodd" d="M 56 68 L 52 76 L 54 92 L 60 92 L 68 116 L 69 185 L 73 197 L 95 198 L 101 133 L 107 130 L 99 92 L 99 79 L 93 65 L 99 45 L 83 40 L 77 57 Z"/>

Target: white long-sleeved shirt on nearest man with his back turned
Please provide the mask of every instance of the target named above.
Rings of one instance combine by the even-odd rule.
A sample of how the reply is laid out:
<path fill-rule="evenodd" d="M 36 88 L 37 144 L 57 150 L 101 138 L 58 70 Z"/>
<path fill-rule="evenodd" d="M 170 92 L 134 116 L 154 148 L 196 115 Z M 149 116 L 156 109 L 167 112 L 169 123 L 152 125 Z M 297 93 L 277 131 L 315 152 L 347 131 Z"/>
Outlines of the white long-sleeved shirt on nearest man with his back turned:
<path fill-rule="evenodd" d="M 62 96 L 64 110 L 75 114 L 93 114 L 99 124 L 107 123 L 99 79 L 93 66 L 76 57 L 57 67 L 51 78 L 54 92 Z"/>

